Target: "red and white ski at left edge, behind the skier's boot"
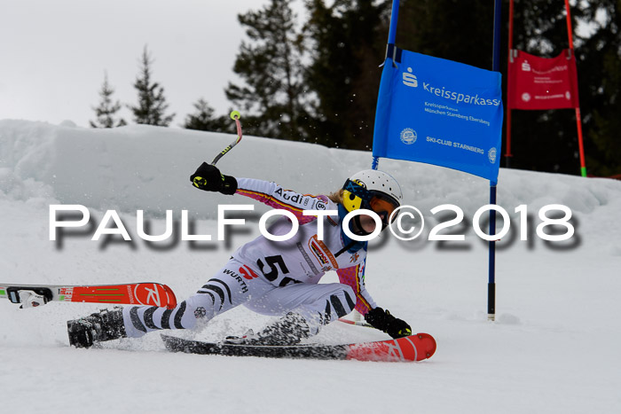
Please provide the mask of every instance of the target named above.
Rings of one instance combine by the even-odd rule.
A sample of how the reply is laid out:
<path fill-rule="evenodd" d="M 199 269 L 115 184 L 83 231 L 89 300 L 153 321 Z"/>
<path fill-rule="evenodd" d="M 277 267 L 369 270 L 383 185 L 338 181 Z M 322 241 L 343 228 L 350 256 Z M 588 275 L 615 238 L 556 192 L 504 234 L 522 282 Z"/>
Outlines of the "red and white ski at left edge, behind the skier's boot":
<path fill-rule="evenodd" d="M 30 308 L 49 301 L 149 305 L 168 309 L 177 306 L 177 298 L 172 289 L 159 283 L 89 286 L 0 283 L 0 298 L 6 298 L 12 303 L 22 303 L 23 307 Z"/>

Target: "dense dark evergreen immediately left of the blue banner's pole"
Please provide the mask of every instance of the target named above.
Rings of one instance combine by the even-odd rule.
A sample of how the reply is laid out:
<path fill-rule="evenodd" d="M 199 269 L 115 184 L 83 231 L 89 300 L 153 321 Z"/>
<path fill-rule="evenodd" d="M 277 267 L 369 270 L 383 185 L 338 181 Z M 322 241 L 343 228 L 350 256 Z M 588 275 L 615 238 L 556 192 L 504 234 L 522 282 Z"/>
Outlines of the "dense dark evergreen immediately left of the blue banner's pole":
<path fill-rule="evenodd" d="M 312 62 L 307 84 L 317 95 L 315 141 L 370 149 L 377 91 L 388 36 L 390 2 L 307 2 Z"/>

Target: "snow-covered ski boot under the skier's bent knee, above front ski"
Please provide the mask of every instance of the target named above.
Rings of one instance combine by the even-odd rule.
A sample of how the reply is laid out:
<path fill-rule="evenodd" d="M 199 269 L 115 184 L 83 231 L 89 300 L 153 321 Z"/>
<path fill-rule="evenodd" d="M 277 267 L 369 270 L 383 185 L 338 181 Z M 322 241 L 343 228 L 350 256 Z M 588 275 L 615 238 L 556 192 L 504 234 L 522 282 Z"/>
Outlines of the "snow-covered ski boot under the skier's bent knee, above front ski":
<path fill-rule="evenodd" d="M 310 335 L 309 324 L 295 313 L 289 312 L 261 332 L 248 330 L 242 337 L 227 336 L 224 343 L 234 345 L 296 345 Z"/>

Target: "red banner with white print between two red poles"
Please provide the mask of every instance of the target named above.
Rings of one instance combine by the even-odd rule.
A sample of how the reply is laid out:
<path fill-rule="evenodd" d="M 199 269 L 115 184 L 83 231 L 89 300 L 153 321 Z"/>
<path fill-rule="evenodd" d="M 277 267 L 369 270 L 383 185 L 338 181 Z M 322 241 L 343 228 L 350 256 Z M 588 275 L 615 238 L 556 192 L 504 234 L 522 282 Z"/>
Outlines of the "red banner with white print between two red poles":
<path fill-rule="evenodd" d="M 567 49 L 546 59 L 512 51 L 509 61 L 507 105 L 511 109 L 562 109 L 578 107 L 578 71 Z"/>

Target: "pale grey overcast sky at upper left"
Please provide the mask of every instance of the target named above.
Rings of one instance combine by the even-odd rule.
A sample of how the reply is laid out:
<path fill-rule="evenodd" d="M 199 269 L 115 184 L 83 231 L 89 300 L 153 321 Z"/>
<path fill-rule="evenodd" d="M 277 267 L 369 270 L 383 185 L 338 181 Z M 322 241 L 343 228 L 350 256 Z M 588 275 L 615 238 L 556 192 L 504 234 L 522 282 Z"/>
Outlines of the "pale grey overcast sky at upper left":
<path fill-rule="evenodd" d="M 206 98 L 226 113 L 227 82 L 244 37 L 237 14 L 268 0 L 0 0 L 0 119 L 95 119 L 105 71 L 115 99 L 137 103 L 145 44 L 153 81 L 178 127 Z M 123 118 L 130 123 L 130 110 Z"/>

